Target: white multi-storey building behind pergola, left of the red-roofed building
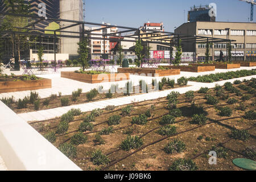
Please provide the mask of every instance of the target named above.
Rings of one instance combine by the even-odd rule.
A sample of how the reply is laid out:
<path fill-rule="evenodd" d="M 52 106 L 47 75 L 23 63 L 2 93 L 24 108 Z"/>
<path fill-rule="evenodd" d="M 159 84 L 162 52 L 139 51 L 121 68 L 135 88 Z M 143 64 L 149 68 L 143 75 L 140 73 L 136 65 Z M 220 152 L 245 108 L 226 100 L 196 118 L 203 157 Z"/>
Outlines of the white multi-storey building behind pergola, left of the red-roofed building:
<path fill-rule="evenodd" d="M 104 23 L 104 22 L 102 24 L 110 25 L 109 23 Z M 113 34 L 118 31 L 118 28 L 110 27 L 110 28 L 101 29 L 104 27 L 105 26 L 85 27 L 86 31 L 91 32 L 90 38 L 93 38 L 93 39 L 90 39 L 90 42 L 89 42 L 90 55 L 91 55 L 92 59 L 100 59 L 101 57 L 104 57 L 105 59 L 109 59 L 109 54 L 110 54 L 110 49 L 111 49 L 110 41 L 105 40 L 105 44 L 104 44 L 104 40 L 102 40 L 102 39 L 104 39 L 104 38 L 109 39 L 111 36 L 108 36 L 106 34 Z M 100 30 L 98 30 L 98 29 L 100 29 Z M 97 38 L 99 38 L 99 39 L 97 39 Z M 112 47 L 115 47 L 115 45 L 111 44 Z M 105 48 L 104 48 L 104 46 L 105 46 Z"/>

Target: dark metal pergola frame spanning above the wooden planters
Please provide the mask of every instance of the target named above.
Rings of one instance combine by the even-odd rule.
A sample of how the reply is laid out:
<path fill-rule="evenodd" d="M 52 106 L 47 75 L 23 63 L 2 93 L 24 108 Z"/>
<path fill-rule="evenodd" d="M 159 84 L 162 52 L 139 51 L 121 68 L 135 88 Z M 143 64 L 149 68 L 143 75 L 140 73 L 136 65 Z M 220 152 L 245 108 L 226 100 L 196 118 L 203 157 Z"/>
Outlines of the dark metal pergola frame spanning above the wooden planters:
<path fill-rule="evenodd" d="M 42 18 L 36 15 L 19 15 L 19 14 L 10 14 L 10 13 L 3 13 L 0 14 L 1 16 L 9 15 L 9 17 L 24 17 L 28 18 L 29 22 L 27 26 L 24 27 L 15 27 L 16 29 L 20 29 L 20 31 L 0 31 L 0 34 L 4 35 L 13 35 L 13 34 L 20 34 L 20 35 L 35 35 L 40 37 L 51 37 L 53 38 L 53 52 L 55 58 L 55 65 L 56 65 L 56 38 L 74 38 L 74 39 L 81 39 L 84 40 L 85 37 L 89 40 L 104 40 L 104 54 L 105 54 L 105 40 L 115 41 L 115 42 L 137 42 L 137 40 L 142 40 L 142 42 L 148 43 L 156 43 L 162 44 L 164 46 L 170 46 L 170 51 L 173 51 L 174 46 L 179 46 L 179 40 L 181 40 L 182 44 L 196 44 L 196 43 L 231 43 L 235 40 L 230 39 L 221 39 L 221 38 L 212 38 L 207 36 L 198 36 L 198 35 L 184 35 L 184 34 L 176 34 L 174 32 L 166 32 L 166 31 L 157 31 L 157 30 L 143 30 L 142 28 L 133 28 L 133 27 L 124 27 L 124 26 L 117 26 L 117 25 L 110 25 L 110 24 L 101 24 L 101 23 L 92 23 L 92 22 L 82 22 L 77 20 L 68 20 L 68 19 L 55 19 L 55 18 Z M 35 28 L 38 23 L 68 23 L 67 26 L 61 27 L 57 30 L 47 30 L 48 32 L 53 32 L 53 34 L 45 34 L 44 28 Z M 94 30 L 85 30 L 85 25 L 93 25 L 93 26 L 101 26 Z M 75 26 L 82 26 L 81 31 L 67 31 L 68 28 L 75 27 Z M 110 34 L 94 34 L 93 32 L 99 30 L 105 30 L 106 28 L 121 28 L 124 30 L 113 32 Z M 142 31 L 142 33 L 141 33 Z M 59 35 L 56 34 L 59 32 Z M 127 32 L 134 32 L 131 35 L 122 35 Z M 67 35 L 73 34 L 73 35 Z M 160 35 L 158 35 L 160 34 Z M 101 35 L 102 38 L 94 37 L 93 35 Z M 142 37 L 142 35 L 150 35 L 148 37 Z M 155 36 L 152 36 L 155 35 Z M 118 38 L 110 38 L 111 36 L 118 36 Z M 127 40 L 125 38 L 133 38 L 134 40 Z M 164 41 L 164 42 L 163 42 Z M 171 58 L 170 58 L 171 60 Z"/>

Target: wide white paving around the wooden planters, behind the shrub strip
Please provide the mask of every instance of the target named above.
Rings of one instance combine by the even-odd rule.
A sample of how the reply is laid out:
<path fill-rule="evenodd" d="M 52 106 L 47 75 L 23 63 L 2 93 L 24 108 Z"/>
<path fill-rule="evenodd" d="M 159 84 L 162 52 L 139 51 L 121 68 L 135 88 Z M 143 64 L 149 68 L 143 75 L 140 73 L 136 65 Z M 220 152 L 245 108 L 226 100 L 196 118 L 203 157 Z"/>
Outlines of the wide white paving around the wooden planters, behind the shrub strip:
<path fill-rule="evenodd" d="M 180 78 L 182 76 L 191 77 L 191 76 L 199 76 L 199 75 L 208 75 L 210 73 L 237 71 L 242 69 L 256 69 L 256 67 L 241 67 L 238 69 L 228 69 L 228 70 L 216 69 L 215 71 L 212 71 L 212 72 L 201 72 L 201 73 L 181 72 L 180 75 L 166 76 L 166 77 L 177 80 L 177 78 Z M 75 70 L 79 70 L 79 68 L 59 69 L 59 71 L 75 71 Z M 50 75 L 37 75 L 37 76 L 49 78 L 52 80 L 52 88 L 35 90 L 35 92 L 38 92 L 40 98 L 49 97 L 51 96 L 51 94 L 59 94 L 59 92 L 61 92 L 62 96 L 71 95 L 74 90 L 77 90 L 79 88 L 82 89 L 82 93 L 89 92 L 91 89 L 94 89 L 94 88 L 97 89 L 99 86 L 103 86 L 104 90 L 108 90 L 112 84 L 118 84 L 119 88 L 123 88 L 125 87 L 125 84 L 127 82 L 127 81 L 118 81 L 118 82 L 104 82 L 100 84 L 88 84 L 80 81 L 71 80 L 68 78 L 61 78 L 60 73 L 55 73 Z M 163 77 L 147 77 L 147 76 L 130 75 L 130 81 L 134 83 L 134 86 L 139 84 L 139 80 L 144 80 L 147 82 L 147 84 L 151 84 L 152 79 L 156 79 L 157 81 L 160 81 L 162 78 Z M 30 90 L 22 91 L 22 92 L 1 93 L 0 98 L 14 96 L 15 100 L 18 100 L 19 98 L 24 98 L 29 94 L 30 94 Z"/>

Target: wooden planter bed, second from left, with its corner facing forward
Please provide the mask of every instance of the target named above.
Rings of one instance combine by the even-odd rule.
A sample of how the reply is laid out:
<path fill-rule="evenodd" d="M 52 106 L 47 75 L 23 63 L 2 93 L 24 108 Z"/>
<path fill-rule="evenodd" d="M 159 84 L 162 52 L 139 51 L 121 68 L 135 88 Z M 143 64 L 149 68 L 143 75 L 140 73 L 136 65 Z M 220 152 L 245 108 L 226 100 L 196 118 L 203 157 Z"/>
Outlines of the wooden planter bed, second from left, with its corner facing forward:
<path fill-rule="evenodd" d="M 86 82 L 89 84 L 129 80 L 130 78 L 130 73 L 110 73 L 110 74 L 90 75 L 85 73 L 61 72 L 60 75 L 63 78 L 69 78 L 72 80 Z"/>

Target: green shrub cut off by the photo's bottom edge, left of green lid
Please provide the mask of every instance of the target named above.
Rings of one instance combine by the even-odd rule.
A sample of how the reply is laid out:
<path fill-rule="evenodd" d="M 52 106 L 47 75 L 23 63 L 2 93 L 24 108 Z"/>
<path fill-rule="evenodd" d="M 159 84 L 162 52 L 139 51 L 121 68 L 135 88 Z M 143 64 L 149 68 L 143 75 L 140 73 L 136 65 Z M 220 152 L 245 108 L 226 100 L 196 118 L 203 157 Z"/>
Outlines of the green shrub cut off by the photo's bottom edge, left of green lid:
<path fill-rule="evenodd" d="M 195 171 L 198 167 L 191 159 L 176 159 L 169 168 L 169 171 Z"/>

